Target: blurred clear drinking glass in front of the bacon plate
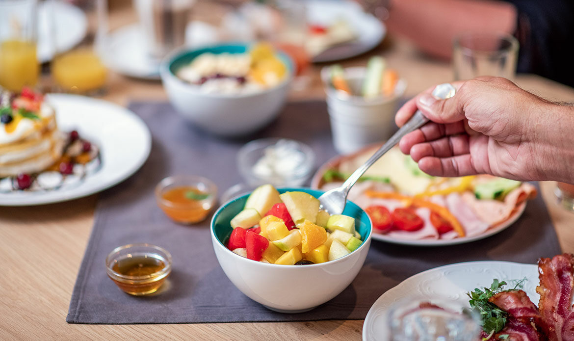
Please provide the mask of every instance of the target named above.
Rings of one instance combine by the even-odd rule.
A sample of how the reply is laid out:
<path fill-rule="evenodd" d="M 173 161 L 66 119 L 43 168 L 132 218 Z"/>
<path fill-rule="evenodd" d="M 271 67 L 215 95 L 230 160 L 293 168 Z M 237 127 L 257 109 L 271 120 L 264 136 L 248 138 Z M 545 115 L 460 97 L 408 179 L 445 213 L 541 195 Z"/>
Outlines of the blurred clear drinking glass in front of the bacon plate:
<path fill-rule="evenodd" d="M 479 317 L 459 301 L 412 298 L 389 311 L 390 341 L 478 340 Z"/>

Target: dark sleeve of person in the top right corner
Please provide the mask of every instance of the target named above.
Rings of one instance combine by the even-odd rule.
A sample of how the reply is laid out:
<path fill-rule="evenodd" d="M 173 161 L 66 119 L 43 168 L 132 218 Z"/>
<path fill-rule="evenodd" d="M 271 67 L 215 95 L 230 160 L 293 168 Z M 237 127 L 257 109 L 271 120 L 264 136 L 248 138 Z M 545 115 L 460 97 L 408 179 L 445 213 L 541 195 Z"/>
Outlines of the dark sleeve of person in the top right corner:
<path fill-rule="evenodd" d="M 518 72 L 574 86 L 574 0 L 506 0 L 518 13 Z"/>

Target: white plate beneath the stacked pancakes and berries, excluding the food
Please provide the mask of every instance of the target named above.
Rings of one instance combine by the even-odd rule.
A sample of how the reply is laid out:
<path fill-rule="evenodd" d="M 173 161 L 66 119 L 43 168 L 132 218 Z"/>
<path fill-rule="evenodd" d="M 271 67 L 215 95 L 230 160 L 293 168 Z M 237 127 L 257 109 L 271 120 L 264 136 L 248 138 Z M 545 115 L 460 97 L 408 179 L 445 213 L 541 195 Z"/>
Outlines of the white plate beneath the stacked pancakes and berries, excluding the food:
<path fill-rule="evenodd" d="M 101 168 L 79 185 L 53 191 L 0 194 L 0 206 L 32 206 L 72 200 L 103 191 L 127 179 L 149 156 L 152 137 L 144 121 L 116 104 L 77 95 L 51 94 L 62 131 L 77 130 L 100 148 Z"/>

